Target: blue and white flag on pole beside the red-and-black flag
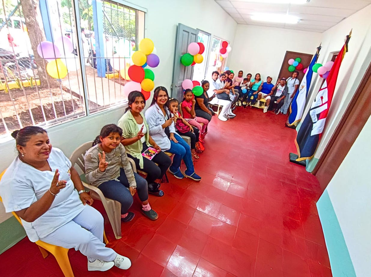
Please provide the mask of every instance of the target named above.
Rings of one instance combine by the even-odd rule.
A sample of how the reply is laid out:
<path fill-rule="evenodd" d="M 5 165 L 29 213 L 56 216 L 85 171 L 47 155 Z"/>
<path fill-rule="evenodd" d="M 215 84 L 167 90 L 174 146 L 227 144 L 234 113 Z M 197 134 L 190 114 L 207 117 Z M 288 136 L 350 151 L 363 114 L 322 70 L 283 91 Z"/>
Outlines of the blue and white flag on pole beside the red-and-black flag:
<path fill-rule="evenodd" d="M 299 92 L 295 93 L 294 99 L 292 99 L 292 103 L 289 109 L 289 118 L 287 120 L 288 126 L 298 125 L 299 121 L 301 121 L 306 97 L 308 96 L 309 87 L 311 86 L 312 76 L 313 76 L 313 65 L 317 62 L 317 58 L 319 55 L 319 50 L 321 50 L 321 45 L 317 47 L 317 52 L 314 54 L 311 64 L 308 66 L 308 70 L 305 72 L 303 80 L 299 86 Z"/>

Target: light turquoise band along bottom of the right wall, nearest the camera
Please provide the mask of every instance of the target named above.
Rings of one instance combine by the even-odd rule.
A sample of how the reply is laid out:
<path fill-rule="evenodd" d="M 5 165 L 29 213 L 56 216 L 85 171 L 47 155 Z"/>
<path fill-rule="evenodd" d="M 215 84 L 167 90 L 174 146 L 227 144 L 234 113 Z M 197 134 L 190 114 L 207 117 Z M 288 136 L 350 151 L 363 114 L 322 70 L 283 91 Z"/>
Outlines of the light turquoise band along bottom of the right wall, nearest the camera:
<path fill-rule="evenodd" d="M 325 235 L 332 276 L 356 277 L 347 244 L 336 217 L 327 189 L 317 202 L 319 219 Z"/>

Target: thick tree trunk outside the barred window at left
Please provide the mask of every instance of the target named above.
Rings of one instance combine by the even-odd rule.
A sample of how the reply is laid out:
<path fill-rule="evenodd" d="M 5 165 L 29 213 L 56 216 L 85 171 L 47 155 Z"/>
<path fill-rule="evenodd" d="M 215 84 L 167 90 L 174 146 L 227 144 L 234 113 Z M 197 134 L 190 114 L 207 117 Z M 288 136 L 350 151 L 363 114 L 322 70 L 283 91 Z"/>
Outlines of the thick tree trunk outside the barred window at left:
<path fill-rule="evenodd" d="M 39 9 L 39 0 L 20 0 L 22 6 L 23 16 L 26 20 L 27 32 L 30 37 L 33 55 L 35 56 L 35 62 L 37 65 L 37 73 L 40 79 L 40 87 L 42 88 L 58 88 L 59 82 L 49 76 L 46 72 L 45 61 L 40 59 L 40 55 L 37 53 L 37 45 L 40 42 L 45 41 L 44 26 Z M 48 86 L 49 84 L 49 86 Z"/>

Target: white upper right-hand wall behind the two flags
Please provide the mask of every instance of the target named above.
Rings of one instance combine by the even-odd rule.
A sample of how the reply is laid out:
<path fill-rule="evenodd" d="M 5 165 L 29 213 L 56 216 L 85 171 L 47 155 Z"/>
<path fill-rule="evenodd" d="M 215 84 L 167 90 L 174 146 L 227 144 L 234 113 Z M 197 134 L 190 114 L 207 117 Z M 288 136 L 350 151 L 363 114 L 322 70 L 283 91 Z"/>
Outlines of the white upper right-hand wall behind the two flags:
<path fill-rule="evenodd" d="M 358 11 L 339 24 L 323 33 L 322 50 L 318 59 L 319 63 L 324 64 L 331 60 L 332 54 L 338 52 L 344 44 L 344 39 L 349 31 L 352 30 L 352 37 L 349 41 L 349 51 L 345 54 L 341 64 L 338 80 L 336 83 L 334 99 L 341 98 L 340 105 L 336 106 L 333 102 L 326 119 L 325 129 L 318 145 L 314 157 L 320 158 L 332 134 L 335 131 L 342 115 L 352 100 L 355 90 L 366 72 L 371 62 L 371 5 Z M 315 85 L 312 86 L 311 98 L 307 103 L 312 103 L 321 85 L 322 78 L 317 78 Z M 334 100 L 333 100 L 334 101 Z M 309 110 L 306 107 L 304 114 Z M 313 159 L 310 163 L 315 163 Z M 313 165 L 311 165 L 313 168 Z"/>

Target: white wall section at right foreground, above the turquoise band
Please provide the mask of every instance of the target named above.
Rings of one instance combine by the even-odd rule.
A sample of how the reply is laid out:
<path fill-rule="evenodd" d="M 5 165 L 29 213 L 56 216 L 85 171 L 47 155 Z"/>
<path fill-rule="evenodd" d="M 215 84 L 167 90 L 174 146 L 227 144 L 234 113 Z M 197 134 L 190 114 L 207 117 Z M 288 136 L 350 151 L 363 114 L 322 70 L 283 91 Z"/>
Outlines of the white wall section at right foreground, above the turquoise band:
<path fill-rule="evenodd" d="M 370 276 L 371 117 L 326 188 L 357 277 Z"/>

